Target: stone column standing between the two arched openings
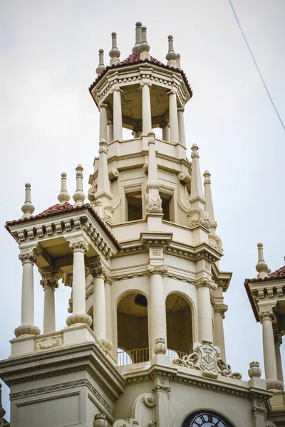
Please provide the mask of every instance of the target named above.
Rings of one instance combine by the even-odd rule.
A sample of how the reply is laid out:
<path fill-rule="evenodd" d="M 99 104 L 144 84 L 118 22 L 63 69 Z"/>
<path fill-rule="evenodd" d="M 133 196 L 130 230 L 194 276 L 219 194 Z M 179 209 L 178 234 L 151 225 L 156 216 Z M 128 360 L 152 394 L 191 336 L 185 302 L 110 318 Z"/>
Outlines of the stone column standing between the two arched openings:
<path fill-rule="evenodd" d="M 167 273 L 167 266 L 148 265 L 147 273 L 150 278 L 150 346 L 151 357 L 153 357 L 157 353 L 165 354 L 167 350 L 166 308 L 163 288 L 163 275 Z M 158 352 L 155 348 L 157 339 L 162 339 L 165 342 L 165 346 L 160 346 L 161 349 Z"/>

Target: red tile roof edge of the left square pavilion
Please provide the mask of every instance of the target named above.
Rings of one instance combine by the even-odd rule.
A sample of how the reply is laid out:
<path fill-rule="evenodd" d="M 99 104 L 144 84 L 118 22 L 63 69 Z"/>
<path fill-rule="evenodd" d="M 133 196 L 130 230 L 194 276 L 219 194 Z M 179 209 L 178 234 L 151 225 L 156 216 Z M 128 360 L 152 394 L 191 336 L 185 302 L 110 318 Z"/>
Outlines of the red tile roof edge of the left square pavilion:
<path fill-rule="evenodd" d="M 87 209 L 90 212 L 90 214 L 92 214 L 93 218 L 95 218 L 95 220 L 98 222 L 98 224 L 101 226 L 101 228 L 103 228 L 103 230 L 105 231 L 107 236 L 110 238 L 110 240 L 113 241 L 113 243 L 115 244 L 115 247 L 118 249 L 118 251 L 120 251 L 120 245 L 119 245 L 117 239 L 110 232 L 110 229 L 106 226 L 105 222 L 100 218 L 100 216 L 98 216 L 95 213 L 94 209 L 88 203 L 83 204 L 82 206 L 73 206 L 67 202 L 64 203 L 63 205 L 56 204 L 56 205 L 53 205 L 50 208 L 46 209 L 45 211 L 41 212 L 41 214 L 30 216 L 29 218 L 20 218 L 20 219 L 14 220 L 14 221 L 7 221 L 5 228 L 9 231 L 9 233 L 11 233 L 10 227 L 16 226 L 17 224 L 30 223 L 33 221 L 37 221 L 38 219 L 48 218 L 50 216 L 58 216 L 61 214 L 66 214 L 68 212 L 84 211 L 84 209 Z"/>

